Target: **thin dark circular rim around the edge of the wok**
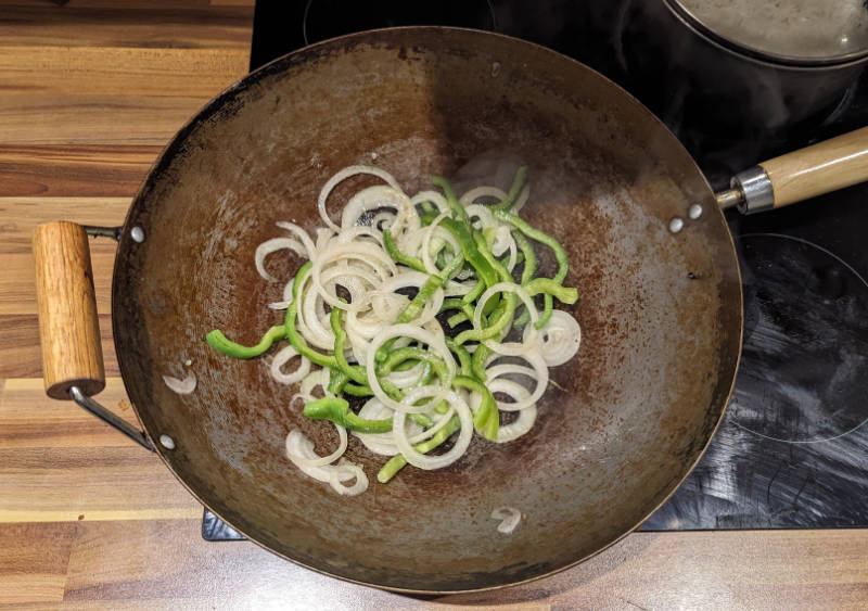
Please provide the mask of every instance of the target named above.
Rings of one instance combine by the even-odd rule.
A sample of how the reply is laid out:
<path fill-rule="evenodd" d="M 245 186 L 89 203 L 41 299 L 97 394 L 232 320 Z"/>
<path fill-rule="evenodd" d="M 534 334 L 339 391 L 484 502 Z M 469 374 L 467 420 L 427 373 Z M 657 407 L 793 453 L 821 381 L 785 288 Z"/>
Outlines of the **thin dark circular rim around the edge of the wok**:
<path fill-rule="evenodd" d="M 111 314 L 112 340 L 113 340 L 113 344 L 115 346 L 115 353 L 116 353 L 116 356 L 117 356 L 118 369 L 120 371 L 122 382 L 126 378 L 125 373 L 129 374 L 128 372 L 129 372 L 129 369 L 130 369 L 130 366 L 125 366 L 125 364 L 124 364 L 125 357 L 122 356 L 123 352 L 118 349 L 118 345 L 117 345 L 117 338 L 120 336 L 120 333 L 118 332 L 118 319 L 119 319 L 119 317 L 115 316 L 115 311 L 119 311 L 122 309 L 122 308 L 119 308 L 120 296 L 119 296 L 119 289 L 118 289 L 118 282 L 119 282 L 118 278 L 120 277 L 120 275 L 125 275 L 126 273 L 125 264 L 123 262 L 125 262 L 126 258 L 127 258 L 126 256 L 122 256 L 122 255 L 126 255 L 126 253 L 129 250 L 129 243 L 130 243 L 131 238 L 129 237 L 129 231 L 128 230 L 131 227 L 131 220 L 132 220 L 132 217 L 135 216 L 133 213 L 137 212 L 141 206 L 144 206 L 144 204 L 142 203 L 144 195 L 148 193 L 148 191 L 150 191 L 150 187 L 151 187 L 152 182 L 154 182 L 157 179 L 156 177 L 158 176 L 159 170 L 163 169 L 164 167 L 168 166 L 170 161 L 178 153 L 178 149 L 179 149 L 180 143 L 183 142 L 183 140 L 188 137 L 188 135 L 192 131 L 192 129 L 194 127 L 196 127 L 203 119 L 205 119 L 207 116 L 209 116 L 213 112 L 219 110 L 225 104 L 227 99 L 229 99 L 231 96 L 233 96 L 233 94 L 235 94 L 235 93 L 238 93 L 240 91 L 243 91 L 243 90 L 247 89 L 252 85 L 260 81 L 263 78 L 269 76 L 272 72 L 280 72 L 284 64 L 291 64 L 292 63 L 292 59 L 294 56 L 296 56 L 298 54 L 302 54 L 304 52 L 307 52 L 310 49 L 316 49 L 316 48 L 319 48 L 319 47 L 340 46 L 340 44 L 343 44 L 345 42 L 353 41 L 354 39 L 357 39 L 357 38 L 367 38 L 367 37 L 370 37 L 371 35 L 375 36 L 375 35 L 379 35 L 379 34 L 388 34 L 388 33 L 392 33 L 392 31 L 457 31 L 457 33 L 470 34 L 470 35 L 473 35 L 473 36 L 494 37 L 494 38 L 499 38 L 501 40 L 508 41 L 510 44 L 513 44 L 513 46 L 516 46 L 516 47 L 525 46 L 526 49 L 534 49 L 537 52 L 544 52 L 544 53 L 548 53 L 548 54 L 551 54 L 551 55 L 556 55 L 561 61 L 567 61 L 571 64 L 577 65 L 579 67 L 579 69 L 590 71 L 591 73 L 593 73 L 596 75 L 596 77 L 600 78 L 603 82 L 605 82 L 609 86 L 611 86 L 612 88 L 616 89 L 618 91 L 618 93 L 624 98 L 624 100 L 626 102 L 628 102 L 629 104 L 631 104 L 634 106 L 638 106 L 639 110 L 641 111 L 641 113 L 647 116 L 649 122 L 656 123 L 658 127 L 662 128 L 663 133 L 665 133 L 671 140 L 669 145 L 678 147 L 684 151 L 686 157 L 689 160 L 689 162 L 688 162 L 689 163 L 689 167 L 692 168 L 693 170 L 695 170 L 695 174 L 700 178 L 701 183 L 704 184 L 704 187 L 707 189 L 706 193 L 710 194 L 712 198 L 714 196 L 714 190 L 712 189 L 711 184 L 709 183 L 707 178 L 705 177 L 705 175 L 700 169 L 699 165 L 697 165 L 697 162 L 693 158 L 693 156 L 689 153 L 689 151 L 686 150 L 684 144 L 678 140 L 678 138 L 676 138 L 676 136 L 672 132 L 672 130 L 654 113 L 652 113 L 647 106 L 644 106 L 644 104 L 642 104 L 635 96 L 629 93 L 627 90 L 622 88 L 620 85 L 614 82 L 612 79 L 610 79 L 605 75 L 603 75 L 603 74 L 599 73 L 598 71 L 591 68 L 590 66 L 588 66 L 588 65 L 586 65 L 586 64 L 579 62 L 578 60 L 575 60 L 575 59 L 573 59 L 573 58 L 571 58 L 569 55 L 564 55 L 563 53 L 560 53 L 560 52 L 558 52 L 558 51 L 556 51 L 553 49 L 545 47 L 542 44 L 538 44 L 536 42 L 532 42 L 532 41 L 524 40 L 524 39 L 521 39 L 521 38 L 516 38 L 516 37 L 513 37 L 513 36 L 508 36 L 508 35 L 505 35 L 505 34 L 487 31 L 487 30 L 480 30 L 480 29 L 468 28 L 468 27 L 452 27 L 452 26 L 398 26 L 398 27 L 385 27 L 385 28 L 376 28 L 376 29 L 369 29 L 369 30 L 362 30 L 362 31 L 358 31 L 358 33 L 346 34 L 346 35 L 339 36 L 339 37 L 335 37 L 335 38 L 321 40 L 321 41 L 315 42 L 312 44 L 308 44 L 306 47 L 302 47 L 299 49 L 291 51 L 291 52 L 289 52 L 289 53 L 286 53 L 284 55 L 281 55 L 280 58 L 276 58 L 275 60 L 272 60 L 272 61 L 259 66 L 255 71 L 244 75 L 239 80 L 237 80 L 235 82 L 231 84 L 230 86 L 225 88 L 222 91 L 220 91 L 218 94 L 216 94 L 214 98 L 212 98 L 202 107 L 200 107 L 195 112 L 195 114 L 193 114 L 178 129 L 178 131 L 175 133 L 175 136 L 173 136 L 171 139 L 163 147 L 162 151 L 159 152 L 159 154 L 157 155 L 157 157 L 154 160 L 153 164 L 151 165 L 150 169 L 148 170 L 148 175 L 141 181 L 141 183 L 140 183 L 137 192 L 136 192 L 136 195 L 132 198 L 130 206 L 127 209 L 127 214 L 126 214 L 126 216 L 124 218 L 124 224 L 122 225 L 122 230 L 120 230 L 122 238 L 120 238 L 120 241 L 118 242 L 118 247 L 117 247 L 117 252 L 115 254 L 115 263 L 114 263 L 113 272 L 112 272 L 113 273 L 112 275 L 112 314 Z M 164 455 L 163 447 L 158 443 L 153 443 L 154 437 L 151 434 L 151 432 L 148 431 L 146 425 L 143 423 L 141 413 L 143 413 L 145 411 L 144 408 L 141 409 L 141 411 L 140 411 L 140 408 L 137 406 L 136 400 L 133 400 L 133 398 L 131 396 L 129 396 L 129 393 L 127 393 L 127 398 L 129 399 L 130 405 L 132 406 L 132 410 L 136 413 L 136 418 L 138 419 L 141 428 L 144 430 L 144 433 L 148 435 L 149 438 L 151 438 L 151 441 L 153 443 L 154 454 L 156 454 L 159 457 L 159 460 L 163 461 L 164 466 L 169 470 L 169 472 L 175 476 L 175 479 L 178 480 L 178 482 L 180 482 L 180 484 L 192 495 L 192 497 L 199 504 L 201 504 L 204 508 L 206 508 L 208 511 L 214 513 L 218 519 L 224 521 L 226 524 L 229 524 L 233 530 L 235 530 L 238 533 L 243 535 L 248 542 L 254 543 L 259 548 L 265 549 L 266 551 L 268 551 L 270 553 L 273 553 L 275 556 L 277 556 L 279 558 L 282 558 L 283 560 L 288 560 L 288 561 L 292 562 L 293 564 L 295 564 L 297 567 L 302 567 L 304 569 L 308 569 L 310 571 L 315 571 L 316 573 L 319 573 L 321 575 L 326 575 L 326 576 L 329 576 L 329 577 L 337 578 L 337 580 L 341 580 L 343 582 L 347 582 L 347 583 L 355 584 L 355 585 L 374 587 L 374 588 L 378 588 L 378 589 L 383 589 L 383 590 L 393 591 L 393 593 L 397 593 L 397 594 L 422 595 L 422 596 L 447 596 L 447 595 L 458 595 L 458 594 L 472 594 L 472 593 L 493 591 L 493 590 L 498 590 L 498 589 L 506 588 L 506 587 L 523 585 L 523 584 L 527 584 L 527 583 L 531 583 L 531 582 L 535 582 L 537 580 L 549 577 L 549 576 L 556 575 L 558 573 L 561 573 L 563 571 L 566 571 L 567 569 L 572 569 L 573 567 L 576 567 L 576 565 L 578 565 L 578 564 L 580 564 L 580 563 L 583 563 L 583 562 L 596 557 L 597 555 L 605 551 L 607 549 L 611 548 L 615 544 L 622 542 L 625 537 L 627 537 L 627 535 L 636 532 L 636 530 L 639 529 L 652 514 L 654 514 L 658 511 L 658 509 L 660 509 L 663 505 L 665 505 L 669 500 L 669 498 L 681 486 L 681 484 L 685 482 L 685 480 L 690 475 L 690 473 L 693 471 L 695 466 L 699 463 L 699 461 L 702 459 L 702 457 L 704 456 L 705 451 L 707 450 L 709 445 L 711 444 L 711 442 L 714 438 L 718 428 L 720 427 L 720 422 L 723 422 L 724 416 L 726 415 L 727 407 L 729 405 L 729 400 L 730 400 L 730 398 L 732 396 L 732 392 L 735 391 L 736 378 L 737 378 L 737 373 L 738 373 L 738 370 L 739 370 L 739 365 L 740 365 L 740 361 L 741 361 L 741 352 L 742 352 L 741 347 L 742 347 L 743 332 L 744 332 L 744 308 L 743 308 L 744 295 L 743 295 L 743 289 L 742 289 L 741 268 L 740 268 L 740 266 L 738 264 L 738 251 L 736 249 L 736 244 L 735 244 L 735 240 L 733 240 L 733 237 L 732 237 L 732 232 L 729 230 L 729 228 L 728 228 L 728 226 L 726 224 L 726 218 L 724 217 L 724 211 L 720 209 L 719 206 L 715 205 L 715 212 L 712 213 L 712 214 L 717 214 L 717 215 L 720 215 L 720 217 L 723 217 L 722 218 L 722 222 L 724 224 L 724 228 L 726 229 L 727 240 L 728 240 L 728 244 L 730 246 L 728 249 L 728 251 L 729 251 L 729 254 L 731 255 L 731 260 L 733 262 L 733 266 L 732 267 L 735 268 L 735 271 L 736 271 L 735 280 L 738 281 L 737 295 L 738 295 L 738 326 L 739 326 L 739 328 L 738 328 L 738 342 L 733 344 L 733 345 L 738 346 L 738 349 L 736 351 L 736 355 L 735 355 L 732 373 L 730 375 L 730 382 L 729 382 L 729 389 L 726 392 L 726 399 L 724 400 L 724 404 L 719 409 L 719 416 L 717 417 L 717 420 L 714 423 L 714 427 L 710 430 L 710 433 L 709 433 L 707 438 L 705 440 L 705 442 L 704 442 L 704 444 L 702 446 L 702 449 L 698 453 L 698 455 L 697 455 L 695 459 L 692 461 L 692 463 L 689 464 L 689 468 L 685 472 L 684 476 L 680 478 L 678 480 L 677 484 L 674 485 L 672 487 L 672 489 L 664 495 L 664 497 L 661 499 L 661 501 L 656 506 L 654 506 L 654 508 L 651 511 L 649 511 L 641 520 L 639 520 L 634 526 L 629 527 L 624 533 L 622 533 L 621 535 L 618 535 L 617 537 L 613 538 L 611 542 L 609 542 L 604 546 L 596 549 L 595 551 L 592 551 L 590 553 L 582 556 L 580 558 L 577 558 L 576 560 L 573 560 L 572 562 L 567 562 L 567 563 L 563 564 L 562 567 L 558 567 L 556 569 L 552 569 L 552 570 L 549 570 L 549 571 L 546 571 L 546 572 L 541 572 L 539 574 L 536 574 L 536 575 L 533 575 L 533 576 L 529 576 L 529 577 L 526 577 L 526 578 L 522 578 L 522 580 L 518 580 L 518 581 L 507 581 L 507 582 L 503 582 L 503 583 L 500 583 L 500 584 L 497 584 L 497 585 L 488 585 L 488 586 L 483 586 L 483 587 L 462 588 L 462 589 L 424 589 L 424 588 L 395 587 L 395 586 L 390 586 L 390 585 L 365 582 L 365 581 L 355 580 L 353 577 L 348 577 L 348 576 L 345 576 L 345 575 L 335 574 L 335 573 L 329 572 L 327 570 L 323 570 L 323 569 L 320 569 L 320 568 L 317 568 L 317 567 L 312 567 L 310 564 L 306 564 L 306 563 L 304 563 L 304 562 L 302 562 L 299 560 L 296 560 L 294 558 L 291 558 L 291 557 L 286 556 L 285 553 L 282 553 L 282 552 L 280 552 L 278 550 L 275 550 L 275 549 L 271 549 L 266 544 L 260 543 L 255 537 L 252 537 L 251 535 L 248 535 L 245 532 L 244 529 L 240 529 L 240 527 L 235 526 L 234 524 L 232 524 L 231 521 L 225 520 L 219 511 L 214 510 L 214 508 L 212 508 L 207 502 L 205 502 L 200 497 L 200 495 L 196 493 L 196 491 L 194 491 L 175 471 L 175 469 L 173 469 L 170 462 L 168 461 L 168 459 Z M 145 239 L 146 238 L 148 237 L 145 236 Z M 722 303 L 723 303 L 723 301 L 722 301 Z M 732 333 L 732 331 L 730 331 L 730 330 L 727 330 L 725 332 L 728 333 L 728 334 Z M 126 383 L 124 384 L 124 387 L 125 387 L 125 393 L 126 393 Z"/>

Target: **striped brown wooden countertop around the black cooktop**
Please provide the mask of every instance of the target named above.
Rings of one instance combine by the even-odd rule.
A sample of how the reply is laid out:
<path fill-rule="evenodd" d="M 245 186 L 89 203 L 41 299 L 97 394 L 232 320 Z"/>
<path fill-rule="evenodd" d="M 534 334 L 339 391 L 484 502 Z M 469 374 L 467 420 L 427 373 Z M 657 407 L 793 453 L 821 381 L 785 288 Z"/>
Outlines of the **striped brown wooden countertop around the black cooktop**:
<path fill-rule="evenodd" d="M 62 4 L 62 5 L 61 5 Z M 0 0 L 0 606 L 14 608 L 865 608 L 868 530 L 637 533 L 496 593 L 414 599 L 251 543 L 120 434 L 42 392 L 30 233 L 117 225 L 161 147 L 247 67 L 252 0 Z M 123 8 L 120 7 L 123 5 Z M 114 244 L 92 242 L 108 387 Z"/>

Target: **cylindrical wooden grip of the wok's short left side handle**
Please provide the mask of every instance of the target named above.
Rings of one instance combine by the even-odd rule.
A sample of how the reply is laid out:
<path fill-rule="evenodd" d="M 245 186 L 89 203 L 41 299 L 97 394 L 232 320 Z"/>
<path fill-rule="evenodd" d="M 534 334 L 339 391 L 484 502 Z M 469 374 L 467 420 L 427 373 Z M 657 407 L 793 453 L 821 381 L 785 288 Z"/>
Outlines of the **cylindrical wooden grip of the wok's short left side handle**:
<path fill-rule="evenodd" d="M 69 389 L 78 386 L 95 395 L 105 370 L 85 228 L 63 220 L 38 226 L 34 256 L 46 393 L 71 399 Z"/>

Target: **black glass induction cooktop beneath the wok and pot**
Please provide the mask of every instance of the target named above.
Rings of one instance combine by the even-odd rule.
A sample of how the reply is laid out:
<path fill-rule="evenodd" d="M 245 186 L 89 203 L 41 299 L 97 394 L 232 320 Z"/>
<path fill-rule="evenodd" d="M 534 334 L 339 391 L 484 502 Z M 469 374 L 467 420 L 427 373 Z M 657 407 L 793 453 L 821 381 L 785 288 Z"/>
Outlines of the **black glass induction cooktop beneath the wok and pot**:
<path fill-rule="evenodd" d="M 642 99 L 593 2 L 258 0 L 251 67 L 305 44 L 396 25 L 516 36 Z M 616 12 L 602 11 L 614 15 Z M 776 132 L 709 136 L 654 109 L 716 189 L 764 158 L 868 125 L 868 77 L 837 107 Z M 750 217 L 727 212 L 744 290 L 736 389 L 707 451 L 643 530 L 868 526 L 868 183 Z M 205 512 L 203 536 L 239 538 Z"/>

